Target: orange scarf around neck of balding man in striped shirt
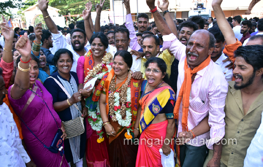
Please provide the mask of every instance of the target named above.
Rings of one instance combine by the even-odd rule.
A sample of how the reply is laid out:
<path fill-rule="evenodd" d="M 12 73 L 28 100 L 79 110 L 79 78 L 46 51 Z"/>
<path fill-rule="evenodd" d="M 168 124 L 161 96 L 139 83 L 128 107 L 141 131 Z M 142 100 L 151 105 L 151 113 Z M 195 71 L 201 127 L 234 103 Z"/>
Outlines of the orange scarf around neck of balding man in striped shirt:
<path fill-rule="evenodd" d="M 185 66 L 184 66 L 185 79 L 180 89 L 179 96 L 176 101 L 176 106 L 173 109 L 174 119 L 178 119 L 180 105 L 181 105 L 181 102 L 183 103 L 182 127 L 183 127 L 184 132 L 188 131 L 187 119 L 188 119 L 188 111 L 189 111 L 189 97 L 190 97 L 190 92 L 191 92 L 191 87 L 192 87 L 192 76 L 193 74 L 197 73 L 198 71 L 208 66 L 210 63 L 211 57 L 209 55 L 207 59 L 205 59 L 199 66 L 195 67 L 193 70 L 190 67 L 188 67 L 186 59 L 185 59 Z"/>

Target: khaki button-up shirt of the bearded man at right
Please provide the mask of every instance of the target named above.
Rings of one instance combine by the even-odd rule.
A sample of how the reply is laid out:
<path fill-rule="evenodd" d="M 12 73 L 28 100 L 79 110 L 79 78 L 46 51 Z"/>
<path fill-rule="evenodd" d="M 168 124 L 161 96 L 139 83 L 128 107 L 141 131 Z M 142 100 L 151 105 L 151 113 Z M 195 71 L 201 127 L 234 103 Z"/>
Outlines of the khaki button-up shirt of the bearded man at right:
<path fill-rule="evenodd" d="M 236 90 L 234 84 L 235 81 L 229 81 L 225 105 L 226 134 L 222 139 L 221 160 L 228 166 L 239 167 L 243 166 L 246 151 L 260 125 L 263 110 L 263 92 L 259 94 L 251 104 L 247 114 L 244 115 L 241 91 Z M 227 144 L 224 145 L 226 142 Z"/>

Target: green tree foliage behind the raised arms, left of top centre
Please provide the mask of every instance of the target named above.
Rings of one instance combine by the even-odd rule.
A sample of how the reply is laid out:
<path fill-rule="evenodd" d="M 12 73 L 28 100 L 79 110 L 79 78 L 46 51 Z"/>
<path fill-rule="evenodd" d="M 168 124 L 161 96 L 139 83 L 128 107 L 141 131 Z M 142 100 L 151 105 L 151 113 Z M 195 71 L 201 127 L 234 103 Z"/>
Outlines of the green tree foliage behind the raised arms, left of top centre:
<path fill-rule="evenodd" d="M 20 0 L 21 1 L 21 0 Z M 82 11 L 85 8 L 85 4 L 89 1 L 85 0 L 49 0 L 49 6 L 60 9 L 59 14 L 61 16 L 66 16 L 67 20 L 70 20 L 75 23 L 78 19 L 80 19 L 82 16 L 77 16 L 81 15 Z M 93 10 L 96 11 L 95 9 L 95 4 L 100 4 L 100 0 L 91 0 L 93 4 Z M 37 3 L 37 0 L 27 0 L 25 2 L 26 4 L 22 7 L 22 10 L 26 10 L 30 6 L 34 5 Z M 104 3 L 103 10 L 110 9 L 110 0 L 106 0 Z M 70 16 L 69 17 L 69 13 Z M 73 16 L 72 16 L 73 15 Z"/>

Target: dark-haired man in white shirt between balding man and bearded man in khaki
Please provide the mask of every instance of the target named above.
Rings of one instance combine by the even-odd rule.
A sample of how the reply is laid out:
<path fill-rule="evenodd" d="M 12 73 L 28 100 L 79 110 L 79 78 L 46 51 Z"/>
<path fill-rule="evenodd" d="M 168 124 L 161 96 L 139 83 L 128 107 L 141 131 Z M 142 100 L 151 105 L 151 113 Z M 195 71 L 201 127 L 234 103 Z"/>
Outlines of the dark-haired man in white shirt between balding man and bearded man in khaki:
<path fill-rule="evenodd" d="M 221 67 L 222 71 L 225 74 L 226 80 L 231 81 L 233 78 L 233 69 L 226 68 L 226 66 L 229 65 L 231 62 L 223 62 L 223 60 L 227 59 L 227 57 L 223 53 L 223 49 L 226 45 L 224 35 L 218 27 L 212 27 L 208 29 L 208 31 L 214 35 L 216 40 L 216 43 L 214 45 L 214 51 L 211 54 L 211 59 L 213 62 L 215 62 Z"/>

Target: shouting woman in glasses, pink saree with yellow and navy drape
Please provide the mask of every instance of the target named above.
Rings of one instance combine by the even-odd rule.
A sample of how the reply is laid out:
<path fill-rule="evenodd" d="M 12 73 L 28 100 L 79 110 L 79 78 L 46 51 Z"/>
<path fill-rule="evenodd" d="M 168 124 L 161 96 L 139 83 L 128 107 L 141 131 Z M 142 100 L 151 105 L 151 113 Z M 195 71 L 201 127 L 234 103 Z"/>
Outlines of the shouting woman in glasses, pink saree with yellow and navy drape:
<path fill-rule="evenodd" d="M 162 166 L 161 148 L 164 155 L 173 150 L 176 122 L 173 107 L 176 94 L 165 82 L 168 80 L 166 64 L 160 58 L 151 58 L 145 63 L 145 75 L 141 87 L 135 136 L 141 132 L 136 166 Z M 146 142 L 145 142 L 146 141 Z"/>

